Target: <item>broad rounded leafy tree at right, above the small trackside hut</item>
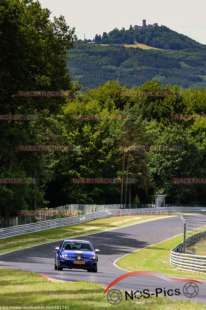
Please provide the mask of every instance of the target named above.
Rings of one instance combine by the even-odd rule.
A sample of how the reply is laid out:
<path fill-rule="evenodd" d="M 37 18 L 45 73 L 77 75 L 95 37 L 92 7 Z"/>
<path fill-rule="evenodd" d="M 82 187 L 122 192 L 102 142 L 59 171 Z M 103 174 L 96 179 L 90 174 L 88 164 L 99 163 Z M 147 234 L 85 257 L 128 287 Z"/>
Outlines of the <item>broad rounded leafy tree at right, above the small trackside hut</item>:
<path fill-rule="evenodd" d="M 156 194 L 166 193 L 173 203 L 181 201 L 190 203 L 191 199 L 194 200 L 191 193 L 193 197 L 198 197 L 195 192 L 196 190 L 198 192 L 199 188 L 194 184 L 173 184 L 171 179 L 204 175 L 205 165 L 202 162 L 204 146 L 195 141 L 190 131 L 185 131 L 177 123 L 165 128 L 156 145 L 182 147 L 181 151 L 175 151 L 174 148 L 164 152 L 149 152 L 149 168 L 152 180 L 158 188 Z"/>

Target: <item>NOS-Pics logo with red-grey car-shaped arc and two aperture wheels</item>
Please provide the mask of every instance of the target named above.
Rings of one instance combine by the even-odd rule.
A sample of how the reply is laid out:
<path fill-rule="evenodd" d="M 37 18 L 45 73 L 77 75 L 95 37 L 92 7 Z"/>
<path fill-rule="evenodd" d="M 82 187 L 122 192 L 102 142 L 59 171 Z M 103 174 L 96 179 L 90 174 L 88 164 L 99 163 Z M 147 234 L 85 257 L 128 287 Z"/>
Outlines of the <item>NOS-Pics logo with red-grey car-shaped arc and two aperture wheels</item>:
<path fill-rule="evenodd" d="M 173 282 L 173 283 L 179 283 L 179 282 L 187 282 L 184 287 L 183 287 L 183 294 L 188 297 L 188 298 L 194 298 L 197 296 L 197 294 L 199 293 L 199 288 L 197 286 L 197 283 L 202 284 L 199 281 L 196 280 L 191 280 L 191 279 L 183 279 L 183 280 L 176 280 L 176 279 L 172 279 L 170 277 L 167 277 L 161 273 L 158 272 L 152 272 L 152 271 L 136 271 L 136 272 L 129 272 L 124 274 L 123 276 L 117 278 L 116 280 L 114 280 L 104 291 L 104 294 L 106 293 L 106 291 L 114 284 L 116 284 L 117 282 L 119 282 L 120 280 L 126 278 L 126 277 L 131 277 L 131 276 L 137 276 L 137 275 L 147 275 L 147 276 L 153 276 L 153 277 L 157 277 L 160 278 L 162 280 L 166 280 L 168 282 Z M 127 292 L 125 291 L 125 300 L 134 300 L 134 299 L 141 299 L 142 297 L 147 299 L 149 297 L 151 297 L 152 295 L 155 295 L 156 297 L 158 297 L 158 294 L 163 293 L 164 296 L 173 296 L 173 295 L 180 295 L 180 289 L 176 288 L 176 289 L 169 289 L 166 290 L 165 287 L 162 289 L 160 287 L 155 289 L 155 293 L 150 293 L 149 289 L 144 289 L 144 290 L 136 290 L 133 291 L 131 290 L 131 292 Z M 119 304 L 123 299 L 123 294 L 120 290 L 117 289 L 111 289 L 107 292 L 107 301 L 109 303 L 111 303 L 112 305 L 117 305 Z"/>

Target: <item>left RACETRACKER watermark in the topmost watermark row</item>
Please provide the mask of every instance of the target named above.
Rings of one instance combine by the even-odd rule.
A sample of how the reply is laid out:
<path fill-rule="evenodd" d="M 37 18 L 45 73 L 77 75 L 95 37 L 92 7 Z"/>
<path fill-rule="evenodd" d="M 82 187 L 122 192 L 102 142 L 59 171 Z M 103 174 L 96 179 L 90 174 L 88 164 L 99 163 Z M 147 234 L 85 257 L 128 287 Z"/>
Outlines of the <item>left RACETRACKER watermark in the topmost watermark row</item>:
<path fill-rule="evenodd" d="M 19 97 L 71 97 L 71 91 L 18 91 Z"/>

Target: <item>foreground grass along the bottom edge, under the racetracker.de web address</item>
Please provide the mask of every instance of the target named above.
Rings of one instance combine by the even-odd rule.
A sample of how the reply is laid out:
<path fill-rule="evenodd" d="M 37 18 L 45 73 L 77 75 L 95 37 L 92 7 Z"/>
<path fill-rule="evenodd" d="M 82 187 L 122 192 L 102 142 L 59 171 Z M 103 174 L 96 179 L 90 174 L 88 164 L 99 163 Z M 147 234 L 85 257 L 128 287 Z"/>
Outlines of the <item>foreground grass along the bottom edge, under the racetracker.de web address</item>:
<path fill-rule="evenodd" d="M 0 306 L 45 307 L 67 306 L 66 309 L 138 309 L 138 310 L 202 310 L 204 304 L 191 301 L 173 301 L 167 297 L 144 300 L 123 300 L 114 306 L 103 295 L 103 286 L 86 281 L 75 283 L 51 282 L 36 273 L 0 268 Z M 53 308 L 54 309 L 54 308 Z M 57 309 L 57 308 L 56 308 Z M 62 309 L 62 308 L 61 308 Z M 65 309 L 65 308 L 64 308 Z"/>

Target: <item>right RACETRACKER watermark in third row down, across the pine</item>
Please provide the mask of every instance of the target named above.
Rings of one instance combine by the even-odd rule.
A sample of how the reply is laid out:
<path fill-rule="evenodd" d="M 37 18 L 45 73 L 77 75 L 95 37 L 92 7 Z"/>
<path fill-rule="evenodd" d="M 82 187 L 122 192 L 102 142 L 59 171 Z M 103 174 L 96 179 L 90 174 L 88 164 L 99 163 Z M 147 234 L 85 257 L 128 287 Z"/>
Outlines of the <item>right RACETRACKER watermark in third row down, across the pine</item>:
<path fill-rule="evenodd" d="M 117 145 L 117 151 L 178 151 L 181 152 L 184 150 L 183 145 Z"/>

